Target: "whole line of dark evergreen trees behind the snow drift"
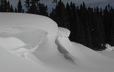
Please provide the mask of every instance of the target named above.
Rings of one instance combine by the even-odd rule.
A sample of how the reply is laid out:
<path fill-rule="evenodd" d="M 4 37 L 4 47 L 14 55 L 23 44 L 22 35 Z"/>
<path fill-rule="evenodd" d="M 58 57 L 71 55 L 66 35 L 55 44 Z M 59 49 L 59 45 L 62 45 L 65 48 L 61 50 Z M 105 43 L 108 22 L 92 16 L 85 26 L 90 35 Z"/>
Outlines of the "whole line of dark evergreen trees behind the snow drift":
<path fill-rule="evenodd" d="M 48 16 L 57 22 L 58 26 L 71 31 L 70 40 L 81 43 L 93 50 L 105 49 L 105 44 L 114 45 L 114 9 L 109 4 L 104 9 L 87 7 L 83 2 L 77 5 L 73 2 L 64 4 L 62 0 L 53 0 L 56 6 L 51 13 L 40 0 L 25 0 L 23 9 L 21 0 L 13 8 L 7 0 L 1 0 L 0 12 L 32 13 Z"/>

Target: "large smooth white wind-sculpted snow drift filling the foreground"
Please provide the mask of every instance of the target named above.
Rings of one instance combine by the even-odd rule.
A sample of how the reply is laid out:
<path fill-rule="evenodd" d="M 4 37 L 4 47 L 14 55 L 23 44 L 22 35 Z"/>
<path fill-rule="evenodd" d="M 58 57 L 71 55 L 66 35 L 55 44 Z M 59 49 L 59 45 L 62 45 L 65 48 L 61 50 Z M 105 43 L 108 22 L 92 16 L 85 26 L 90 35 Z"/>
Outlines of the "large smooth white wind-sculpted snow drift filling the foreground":
<path fill-rule="evenodd" d="M 44 16 L 0 13 L 0 72 L 113 72 L 114 59 L 69 40 Z"/>

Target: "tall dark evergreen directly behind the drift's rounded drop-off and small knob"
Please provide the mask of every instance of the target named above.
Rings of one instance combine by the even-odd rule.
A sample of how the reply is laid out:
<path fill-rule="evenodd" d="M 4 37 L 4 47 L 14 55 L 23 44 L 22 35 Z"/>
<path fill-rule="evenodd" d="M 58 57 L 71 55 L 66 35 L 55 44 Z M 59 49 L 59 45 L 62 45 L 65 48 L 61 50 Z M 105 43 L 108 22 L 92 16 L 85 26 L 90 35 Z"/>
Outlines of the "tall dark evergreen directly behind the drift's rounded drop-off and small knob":
<path fill-rule="evenodd" d="M 61 0 L 57 3 L 56 8 L 50 14 L 50 17 L 57 22 L 58 26 L 67 27 L 65 5 Z"/>

